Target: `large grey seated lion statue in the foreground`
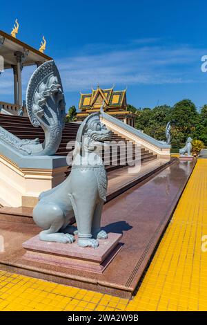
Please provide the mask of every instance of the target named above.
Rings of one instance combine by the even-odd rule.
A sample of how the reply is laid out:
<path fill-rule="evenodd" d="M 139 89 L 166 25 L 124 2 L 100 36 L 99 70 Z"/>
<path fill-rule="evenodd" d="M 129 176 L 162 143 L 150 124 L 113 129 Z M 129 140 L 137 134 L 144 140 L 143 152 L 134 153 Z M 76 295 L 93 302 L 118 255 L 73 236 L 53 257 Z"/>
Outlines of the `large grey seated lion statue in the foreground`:
<path fill-rule="evenodd" d="M 72 243 L 68 226 L 75 215 L 78 245 L 97 248 L 98 239 L 107 239 L 101 230 L 101 212 L 107 192 L 107 174 L 97 147 L 110 140 L 111 131 L 101 124 L 100 112 L 92 113 L 79 127 L 70 175 L 57 187 L 43 192 L 33 210 L 34 222 L 43 228 L 42 241 Z"/>

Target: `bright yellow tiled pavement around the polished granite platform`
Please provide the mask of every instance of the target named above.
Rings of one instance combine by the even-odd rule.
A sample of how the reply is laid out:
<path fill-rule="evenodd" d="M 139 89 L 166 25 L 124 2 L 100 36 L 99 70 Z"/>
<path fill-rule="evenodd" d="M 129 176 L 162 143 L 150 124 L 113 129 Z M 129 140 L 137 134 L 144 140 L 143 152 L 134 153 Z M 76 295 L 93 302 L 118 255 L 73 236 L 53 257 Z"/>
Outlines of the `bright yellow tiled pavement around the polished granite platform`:
<path fill-rule="evenodd" d="M 120 299 L 0 271 L 0 310 L 207 310 L 205 235 L 207 159 L 200 159 L 136 297 Z"/>

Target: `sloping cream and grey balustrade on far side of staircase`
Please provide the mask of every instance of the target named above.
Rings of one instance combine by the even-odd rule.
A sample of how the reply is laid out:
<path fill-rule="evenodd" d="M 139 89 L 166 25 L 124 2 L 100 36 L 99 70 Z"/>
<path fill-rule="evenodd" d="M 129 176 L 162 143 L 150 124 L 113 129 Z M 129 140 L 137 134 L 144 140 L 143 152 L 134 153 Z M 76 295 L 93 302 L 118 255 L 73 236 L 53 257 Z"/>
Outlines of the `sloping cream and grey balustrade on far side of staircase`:
<path fill-rule="evenodd" d="M 102 122 L 106 124 L 106 127 L 119 134 L 119 136 L 145 147 L 161 158 L 170 158 L 170 145 L 156 140 L 134 127 L 130 127 L 130 125 L 121 122 L 107 113 L 101 113 L 101 115 Z"/>

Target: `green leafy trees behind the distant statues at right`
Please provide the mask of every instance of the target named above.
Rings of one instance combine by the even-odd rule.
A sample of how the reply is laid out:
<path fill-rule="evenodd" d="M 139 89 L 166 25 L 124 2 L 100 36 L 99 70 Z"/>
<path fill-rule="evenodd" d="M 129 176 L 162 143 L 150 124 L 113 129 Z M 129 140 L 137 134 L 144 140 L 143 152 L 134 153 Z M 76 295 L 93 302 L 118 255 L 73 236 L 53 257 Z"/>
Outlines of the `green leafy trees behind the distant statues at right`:
<path fill-rule="evenodd" d="M 166 124 L 172 121 L 172 147 L 180 147 L 188 136 L 207 145 L 207 104 L 201 108 L 200 113 L 188 99 L 181 100 L 172 107 L 161 105 L 154 109 L 137 109 L 135 113 L 135 127 L 157 140 L 166 140 Z"/>

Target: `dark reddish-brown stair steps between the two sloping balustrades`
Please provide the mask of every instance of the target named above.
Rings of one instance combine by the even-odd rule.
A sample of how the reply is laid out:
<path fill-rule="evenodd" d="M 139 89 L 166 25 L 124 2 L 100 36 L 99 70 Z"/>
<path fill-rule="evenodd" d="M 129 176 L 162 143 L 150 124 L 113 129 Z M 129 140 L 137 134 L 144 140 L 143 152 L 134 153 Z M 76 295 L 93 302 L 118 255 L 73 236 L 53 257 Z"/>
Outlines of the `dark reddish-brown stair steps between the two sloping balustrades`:
<path fill-rule="evenodd" d="M 72 151 L 73 147 L 71 149 L 66 149 L 66 146 L 69 141 L 75 141 L 79 125 L 79 123 L 75 122 L 66 122 L 65 128 L 63 130 L 63 137 L 56 155 L 67 156 L 68 153 Z M 33 127 L 30 123 L 29 118 L 26 117 L 0 114 L 0 126 L 21 139 L 39 138 L 40 142 L 43 142 L 44 140 L 43 129 L 41 129 L 41 127 Z M 129 140 L 126 140 L 125 138 L 122 138 L 115 133 L 112 133 L 112 140 L 115 142 L 129 142 Z M 130 153 L 130 156 L 127 156 L 126 149 L 120 147 L 117 147 L 117 149 L 110 148 L 110 151 L 103 157 L 106 163 L 106 171 L 112 171 L 121 167 L 126 167 L 132 162 L 132 160 L 135 160 L 135 153 L 135 144 L 132 145 L 132 152 Z M 115 165 L 113 163 L 113 160 L 116 158 L 117 164 Z M 155 160 L 156 158 L 156 154 L 153 154 L 144 148 L 141 148 L 140 155 L 138 156 L 138 159 L 141 159 L 141 163 L 146 163 L 147 161 Z M 123 164 L 124 160 L 125 165 Z M 69 172 L 70 167 L 68 167 L 68 172 L 66 174 L 69 174 Z"/>

